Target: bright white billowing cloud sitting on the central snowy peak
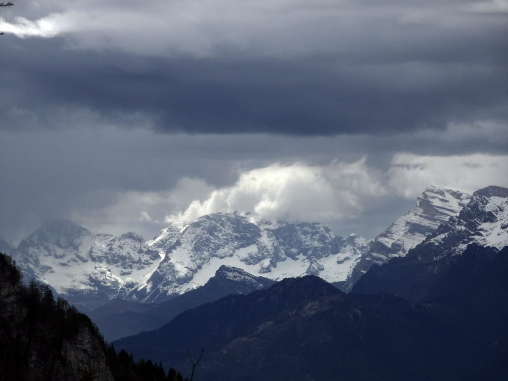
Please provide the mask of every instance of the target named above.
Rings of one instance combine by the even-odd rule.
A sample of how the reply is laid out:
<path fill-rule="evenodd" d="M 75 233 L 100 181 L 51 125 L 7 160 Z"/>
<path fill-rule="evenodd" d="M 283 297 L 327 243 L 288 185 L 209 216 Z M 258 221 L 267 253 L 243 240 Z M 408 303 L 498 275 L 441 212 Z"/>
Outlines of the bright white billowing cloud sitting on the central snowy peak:
<path fill-rule="evenodd" d="M 229 187 L 192 201 L 166 221 L 190 223 L 213 212 L 250 211 L 259 218 L 291 221 L 331 221 L 357 216 L 363 199 L 382 196 L 379 173 L 365 158 L 327 166 L 274 164 L 240 174 Z"/>

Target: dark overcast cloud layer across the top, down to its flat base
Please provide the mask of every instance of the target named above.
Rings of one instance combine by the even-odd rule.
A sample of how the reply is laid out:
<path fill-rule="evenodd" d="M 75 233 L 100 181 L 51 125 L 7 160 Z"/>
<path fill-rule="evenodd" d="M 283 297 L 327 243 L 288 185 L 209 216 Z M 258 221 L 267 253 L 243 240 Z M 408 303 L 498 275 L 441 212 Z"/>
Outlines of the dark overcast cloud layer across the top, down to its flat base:
<path fill-rule="evenodd" d="M 506 4 L 16 4 L 0 20 L 11 34 L 2 41 L 4 128 L 85 118 L 313 135 L 506 121 Z"/>

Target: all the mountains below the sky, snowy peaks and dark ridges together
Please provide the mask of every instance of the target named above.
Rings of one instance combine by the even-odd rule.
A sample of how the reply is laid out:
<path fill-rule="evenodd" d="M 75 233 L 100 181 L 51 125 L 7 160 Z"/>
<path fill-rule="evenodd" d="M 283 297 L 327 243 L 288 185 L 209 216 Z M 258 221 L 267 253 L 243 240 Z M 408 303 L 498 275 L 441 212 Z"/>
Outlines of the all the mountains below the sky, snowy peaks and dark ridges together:
<path fill-rule="evenodd" d="M 167 379 L 143 358 L 190 373 L 189 356 L 202 350 L 192 374 L 205 381 L 508 378 L 508 189 L 499 186 L 430 187 L 372 241 L 235 212 L 150 241 L 53 221 L 17 248 L 0 244 L 25 278 L 95 307 L 109 340 L 132 335 L 113 342 L 117 356 L 86 316 L 49 287 L 23 286 L 2 256 L 0 365 L 13 374 L 19 361 L 37 372 L 92 369 L 79 351 L 94 343 L 104 379 L 136 367 Z M 74 341 L 59 357 L 65 340 Z M 56 352 L 44 351 L 50 344 Z"/>

